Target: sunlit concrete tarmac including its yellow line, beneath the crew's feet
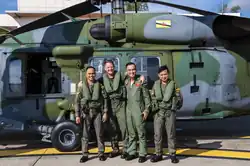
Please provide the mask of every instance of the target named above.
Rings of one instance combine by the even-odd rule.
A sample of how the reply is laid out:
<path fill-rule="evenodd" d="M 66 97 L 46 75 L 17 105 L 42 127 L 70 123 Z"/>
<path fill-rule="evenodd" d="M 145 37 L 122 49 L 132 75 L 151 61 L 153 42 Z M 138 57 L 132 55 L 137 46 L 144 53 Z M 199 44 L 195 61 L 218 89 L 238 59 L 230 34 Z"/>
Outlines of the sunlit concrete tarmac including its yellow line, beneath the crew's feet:
<path fill-rule="evenodd" d="M 194 141 L 195 140 L 195 141 Z M 177 156 L 180 159 L 178 165 L 180 166 L 249 166 L 250 164 L 250 139 L 188 139 L 182 145 L 178 143 Z M 90 155 L 90 160 L 86 163 L 79 163 L 81 157 L 80 151 L 74 153 L 60 153 L 51 147 L 41 147 L 31 150 L 27 150 L 24 145 L 7 145 L 1 146 L 0 155 L 3 153 L 17 155 L 18 157 L 1 157 L 0 166 L 45 166 L 45 165 L 59 165 L 59 166 L 137 166 L 142 165 L 138 163 L 138 159 L 133 161 L 125 161 L 116 158 L 107 158 L 102 162 L 96 158 L 96 154 Z M 35 145 L 33 145 L 35 146 Z M 39 145 L 37 145 L 38 147 Z M 182 147 L 181 147 L 182 146 Z M 184 147 L 186 146 L 186 147 Z M 20 149 L 21 148 L 21 149 Z M 29 148 L 30 149 L 30 148 Z M 111 149 L 109 148 L 107 152 Z M 93 148 L 90 153 L 96 153 L 97 149 Z M 154 148 L 148 148 L 149 153 L 154 152 Z M 167 149 L 164 150 L 167 153 Z M 33 156 L 26 156 L 33 155 Z M 166 156 L 164 161 L 159 163 L 151 163 L 150 155 L 148 155 L 148 161 L 143 165 L 169 165 L 172 164 L 169 158 Z"/>

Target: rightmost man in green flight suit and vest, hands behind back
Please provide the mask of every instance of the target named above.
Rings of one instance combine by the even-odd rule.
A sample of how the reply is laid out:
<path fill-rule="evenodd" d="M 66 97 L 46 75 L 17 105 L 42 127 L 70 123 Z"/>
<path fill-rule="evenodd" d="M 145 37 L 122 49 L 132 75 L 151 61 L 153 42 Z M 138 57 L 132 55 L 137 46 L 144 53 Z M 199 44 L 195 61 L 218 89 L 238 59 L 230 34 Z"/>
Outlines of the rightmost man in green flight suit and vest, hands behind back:
<path fill-rule="evenodd" d="M 168 78 L 169 69 L 166 65 L 158 70 L 159 80 L 155 81 L 152 95 L 152 111 L 154 112 L 154 141 L 156 154 L 151 162 L 162 160 L 163 129 L 167 131 L 168 150 L 172 163 L 178 163 L 176 158 L 175 122 L 178 98 L 176 96 L 175 82 Z"/>

